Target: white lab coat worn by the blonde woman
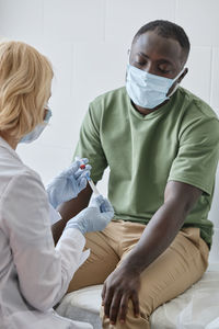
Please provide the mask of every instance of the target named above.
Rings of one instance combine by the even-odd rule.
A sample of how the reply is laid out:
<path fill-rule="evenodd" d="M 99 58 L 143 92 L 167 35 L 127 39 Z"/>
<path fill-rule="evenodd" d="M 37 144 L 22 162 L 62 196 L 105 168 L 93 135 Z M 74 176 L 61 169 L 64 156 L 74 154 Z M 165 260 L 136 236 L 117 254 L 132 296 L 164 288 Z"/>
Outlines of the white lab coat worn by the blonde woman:
<path fill-rule="evenodd" d="M 82 234 L 69 228 L 54 247 L 41 178 L 0 138 L 0 329 L 92 328 L 53 310 L 84 243 Z"/>

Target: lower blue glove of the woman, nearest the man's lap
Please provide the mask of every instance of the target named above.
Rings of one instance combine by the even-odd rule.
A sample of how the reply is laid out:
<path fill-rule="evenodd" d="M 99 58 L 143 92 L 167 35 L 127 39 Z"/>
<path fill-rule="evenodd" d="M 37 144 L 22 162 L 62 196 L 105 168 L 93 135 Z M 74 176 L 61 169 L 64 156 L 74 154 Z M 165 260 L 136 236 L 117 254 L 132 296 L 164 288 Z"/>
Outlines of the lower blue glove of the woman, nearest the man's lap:
<path fill-rule="evenodd" d="M 71 218 L 65 229 L 78 228 L 83 235 L 89 231 L 103 230 L 114 216 L 114 209 L 107 198 L 94 197 L 90 206 Z"/>

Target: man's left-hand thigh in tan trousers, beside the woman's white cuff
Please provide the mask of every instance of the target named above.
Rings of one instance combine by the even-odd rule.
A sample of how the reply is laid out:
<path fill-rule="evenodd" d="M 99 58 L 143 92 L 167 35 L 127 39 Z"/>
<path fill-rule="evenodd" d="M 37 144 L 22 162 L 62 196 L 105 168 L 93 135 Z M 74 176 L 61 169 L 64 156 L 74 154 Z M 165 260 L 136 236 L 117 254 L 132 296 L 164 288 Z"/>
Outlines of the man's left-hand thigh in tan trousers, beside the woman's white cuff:
<path fill-rule="evenodd" d="M 76 272 L 68 293 L 84 286 L 102 284 L 115 270 L 119 258 L 114 248 L 115 240 L 111 241 L 111 235 L 115 236 L 114 226 L 112 223 L 103 232 L 95 231 L 85 235 L 85 249 L 90 249 L 91 254 Z"/>

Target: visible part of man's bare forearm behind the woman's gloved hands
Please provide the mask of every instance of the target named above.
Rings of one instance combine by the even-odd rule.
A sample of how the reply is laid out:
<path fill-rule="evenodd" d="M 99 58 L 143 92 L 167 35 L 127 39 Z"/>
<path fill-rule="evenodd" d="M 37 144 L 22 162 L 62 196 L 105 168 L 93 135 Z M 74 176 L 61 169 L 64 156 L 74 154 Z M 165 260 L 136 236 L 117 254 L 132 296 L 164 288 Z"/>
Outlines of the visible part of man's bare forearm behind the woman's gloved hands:
<path fill-rule="evenodd" d="M 81 191 L 78 197 L 65 202 L 58 207 L 61 219 L 51 227 L 55 243 L 58 242 L 67 222 L 88 206 L 91 194 L 91 188 L 88 185 L 83 191 Z"/>

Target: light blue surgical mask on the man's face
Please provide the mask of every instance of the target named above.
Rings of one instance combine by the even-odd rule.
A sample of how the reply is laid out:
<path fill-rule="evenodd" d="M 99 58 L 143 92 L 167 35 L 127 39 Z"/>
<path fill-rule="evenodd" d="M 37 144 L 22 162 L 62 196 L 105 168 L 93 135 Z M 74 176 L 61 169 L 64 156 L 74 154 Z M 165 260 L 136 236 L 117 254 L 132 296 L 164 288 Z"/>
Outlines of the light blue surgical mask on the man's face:
<path fill-rule="evenodd" d="M 148 73 L 128 64 L 126 76 L 127 93 L 136 105 L 152 110 L 170 99 L 177 86 L 169 97 L 166 94 L 183 70 L 174 79 L 169 79 Z"/>

